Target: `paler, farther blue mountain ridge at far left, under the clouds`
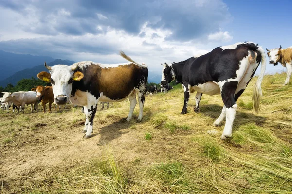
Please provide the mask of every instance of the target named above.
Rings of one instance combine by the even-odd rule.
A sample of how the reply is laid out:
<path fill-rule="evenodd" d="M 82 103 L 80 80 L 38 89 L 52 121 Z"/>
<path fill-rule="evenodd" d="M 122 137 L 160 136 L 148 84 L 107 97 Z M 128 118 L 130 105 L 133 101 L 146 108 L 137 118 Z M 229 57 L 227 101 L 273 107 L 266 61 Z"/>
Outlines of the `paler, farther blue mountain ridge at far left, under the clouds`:
<path fill-rule="evenodd" d="M 50 63 L 54 61 L 52 57 L 48 56 L 33 56 L 29 54 L 15 54 L 0 50 L 0 80 L 4 80 L 14 73 L 32 68 L 34 66 L 43 64 L 45 61 Z"/>

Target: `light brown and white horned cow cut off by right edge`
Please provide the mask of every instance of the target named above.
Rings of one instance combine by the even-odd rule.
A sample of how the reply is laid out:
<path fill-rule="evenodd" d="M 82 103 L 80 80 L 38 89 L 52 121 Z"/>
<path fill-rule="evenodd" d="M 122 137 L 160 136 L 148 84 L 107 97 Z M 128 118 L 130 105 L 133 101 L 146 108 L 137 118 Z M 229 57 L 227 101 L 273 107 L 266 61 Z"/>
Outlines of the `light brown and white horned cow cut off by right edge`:
<path fill-rule="evenodd" d="M 283 67 L 287 68 L 287 77 L 286 81 L 284 82 L 284 85 L 287 85 L 289 83 L 292 73 L 292 46 L 286 49 L 282 49 L 282 46 L 280 45 L 279 49 L 266 49 L 268 51 L 267 54 L 270 58 L 270 64 L 274 64 L 274 66 L 276 66 L 279 62 L 282 64 Z"/>

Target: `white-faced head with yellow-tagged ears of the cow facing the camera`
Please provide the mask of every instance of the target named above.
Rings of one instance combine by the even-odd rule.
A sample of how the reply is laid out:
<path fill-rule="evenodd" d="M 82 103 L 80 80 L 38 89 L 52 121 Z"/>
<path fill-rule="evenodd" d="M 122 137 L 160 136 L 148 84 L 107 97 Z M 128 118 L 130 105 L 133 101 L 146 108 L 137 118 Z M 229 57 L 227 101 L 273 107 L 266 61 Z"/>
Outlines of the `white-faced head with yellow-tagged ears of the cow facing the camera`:
<path fill-rule="evenodd" d="M 37 77 L 43 81 L 51 82 L 56 104 L 65 104 L 69 101 L 73 81 L 80 81 L 84 77 L 83 73 L 74 72 L 78 68 L 78 64 L 50 67 L 45 62 L 45 67 L 50 70 L 50 73 L 42 71 L 37 74 Z"/>

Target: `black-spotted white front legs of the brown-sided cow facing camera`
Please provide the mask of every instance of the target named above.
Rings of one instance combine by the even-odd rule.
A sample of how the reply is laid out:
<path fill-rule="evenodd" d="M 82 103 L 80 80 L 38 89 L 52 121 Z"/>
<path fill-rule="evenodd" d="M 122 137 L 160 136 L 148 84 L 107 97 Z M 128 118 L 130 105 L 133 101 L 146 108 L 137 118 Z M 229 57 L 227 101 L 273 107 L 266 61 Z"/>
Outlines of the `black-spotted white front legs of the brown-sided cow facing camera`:
<path fill-rule="evenodd" d="M 84 113 L 86 116 L 85 126 L 83 131 L 86 131 L 85 133 L 85 139 L 91 137 L 91 133 L 93 131 L 93 119 L 97 110 L 97 103 L 94 104 L 87 104 L 84 106 Z"/>

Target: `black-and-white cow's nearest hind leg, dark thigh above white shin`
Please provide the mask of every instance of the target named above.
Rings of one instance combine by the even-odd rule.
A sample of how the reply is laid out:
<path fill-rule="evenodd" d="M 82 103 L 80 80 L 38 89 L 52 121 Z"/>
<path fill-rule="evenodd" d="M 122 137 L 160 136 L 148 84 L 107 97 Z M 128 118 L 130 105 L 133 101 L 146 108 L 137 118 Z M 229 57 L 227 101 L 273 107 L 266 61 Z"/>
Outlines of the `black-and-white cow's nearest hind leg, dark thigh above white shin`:
<path fill-rule="evenodd" d="M 221 97 L 225 105 L 226 114 L 226 123 L 223 133 L 221 135 L 221 139 L 232 137 L 233 121 L 237 111 L 237 104 L 235 100 L 235 91 L 237 88 L 237 84 L 237 81 L 225 82 L 222 86 L 219 84 L 221 88 Z"/>

